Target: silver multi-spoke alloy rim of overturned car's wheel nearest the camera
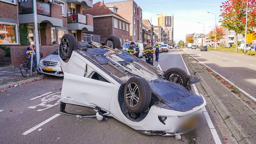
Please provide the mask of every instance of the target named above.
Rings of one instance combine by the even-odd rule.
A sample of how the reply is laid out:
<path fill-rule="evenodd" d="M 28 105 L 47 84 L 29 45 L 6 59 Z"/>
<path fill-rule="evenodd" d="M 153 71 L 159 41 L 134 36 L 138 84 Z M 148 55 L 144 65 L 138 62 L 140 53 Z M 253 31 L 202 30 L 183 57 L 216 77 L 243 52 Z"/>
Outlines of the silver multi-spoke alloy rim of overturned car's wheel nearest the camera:
<path fill-rule="evenodd" d="M 140 99 L 140 91 L 137 84 L 129 83 L 128 87 L 126 88 L 125 98 L 130 107 L 135 107 L 138 105 Z"/>

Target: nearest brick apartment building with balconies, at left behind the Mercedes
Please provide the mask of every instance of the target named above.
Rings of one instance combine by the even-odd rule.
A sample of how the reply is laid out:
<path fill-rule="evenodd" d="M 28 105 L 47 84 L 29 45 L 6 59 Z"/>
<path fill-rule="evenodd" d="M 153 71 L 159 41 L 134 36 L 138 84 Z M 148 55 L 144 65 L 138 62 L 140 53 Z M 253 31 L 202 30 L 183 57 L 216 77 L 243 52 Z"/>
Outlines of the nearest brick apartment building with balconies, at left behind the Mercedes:
<path fill-rule="evenodd" d="M 26 58 L 28 44 L 35 43 L 32 2 L 0 0 L 0 44 L 11 51 L 10 61 L 6 61 L 6 52 L 0 48 L 0 65 L 19 66 Z M 39 47 L 44 57 L 58 48 L 64 34 L 72 33 L 80 41 L 83 32 L 93 31 L 92 16 L 81 14 L 82 8 L 92 7 L 92 0 L 37 0 L 36 5 Z"/>

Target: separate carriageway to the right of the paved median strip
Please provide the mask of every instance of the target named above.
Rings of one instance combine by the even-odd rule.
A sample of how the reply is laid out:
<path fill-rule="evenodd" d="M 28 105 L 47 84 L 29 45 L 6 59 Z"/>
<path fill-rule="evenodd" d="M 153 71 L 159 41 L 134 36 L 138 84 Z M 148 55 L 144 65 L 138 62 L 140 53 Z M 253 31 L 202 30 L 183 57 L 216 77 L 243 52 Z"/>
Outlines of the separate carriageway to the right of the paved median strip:
<path fill-rule="evenodd" d="M 241 54 L 183 49 L 256 98 L 256 59 Z"/>

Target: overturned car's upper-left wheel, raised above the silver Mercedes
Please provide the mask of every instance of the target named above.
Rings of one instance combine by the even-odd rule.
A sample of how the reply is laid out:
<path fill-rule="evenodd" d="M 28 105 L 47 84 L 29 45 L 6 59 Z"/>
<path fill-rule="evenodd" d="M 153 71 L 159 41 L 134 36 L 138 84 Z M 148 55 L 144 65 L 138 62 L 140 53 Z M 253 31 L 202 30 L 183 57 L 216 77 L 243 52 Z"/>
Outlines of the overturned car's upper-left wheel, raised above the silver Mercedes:
<path fill-rule="evenodd" d="M 73 50 L 77 49 L 76 38 L 72 34 L 65 34 L 61 38 L 60 52 L 65 58 L 70 58 Z"/>

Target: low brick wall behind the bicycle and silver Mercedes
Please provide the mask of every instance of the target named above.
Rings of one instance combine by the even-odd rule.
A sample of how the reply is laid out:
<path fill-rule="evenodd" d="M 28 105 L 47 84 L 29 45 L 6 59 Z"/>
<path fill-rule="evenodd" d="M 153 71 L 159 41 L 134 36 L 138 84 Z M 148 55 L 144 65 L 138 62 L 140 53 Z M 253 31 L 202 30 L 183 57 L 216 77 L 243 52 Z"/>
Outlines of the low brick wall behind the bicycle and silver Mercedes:
<path fill-rule="evenodd" d="M 11 63 L 18 67 L 22 61 L 26 60 L 26 50 L 28 46 L 10 46 L 11 49 Z M 58 49 L 58 45 L 40 46 L 40 52 L 43 53 L 43 58 Z"/>

